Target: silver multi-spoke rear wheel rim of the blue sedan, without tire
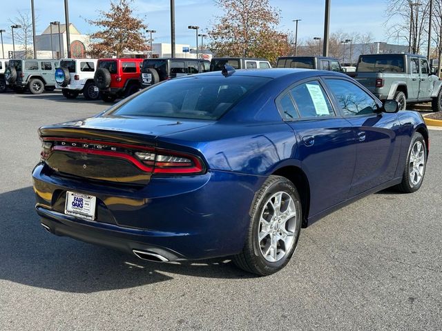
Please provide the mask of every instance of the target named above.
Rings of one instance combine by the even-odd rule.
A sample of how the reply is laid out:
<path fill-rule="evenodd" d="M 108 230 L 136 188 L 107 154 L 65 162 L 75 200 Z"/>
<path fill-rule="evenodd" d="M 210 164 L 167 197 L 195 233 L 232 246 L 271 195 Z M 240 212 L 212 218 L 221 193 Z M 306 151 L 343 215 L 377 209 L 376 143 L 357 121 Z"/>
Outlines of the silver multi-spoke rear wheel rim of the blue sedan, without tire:
<path fill-rule="evenodd" d="M 267 261 L 280 261 L 291 251 L 297 216 L 294 199 L 286 192 L 277 192 L 267 200 L 258 229 L 258 244 Z"/>

